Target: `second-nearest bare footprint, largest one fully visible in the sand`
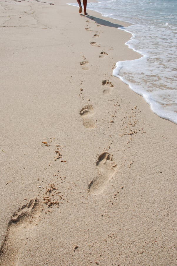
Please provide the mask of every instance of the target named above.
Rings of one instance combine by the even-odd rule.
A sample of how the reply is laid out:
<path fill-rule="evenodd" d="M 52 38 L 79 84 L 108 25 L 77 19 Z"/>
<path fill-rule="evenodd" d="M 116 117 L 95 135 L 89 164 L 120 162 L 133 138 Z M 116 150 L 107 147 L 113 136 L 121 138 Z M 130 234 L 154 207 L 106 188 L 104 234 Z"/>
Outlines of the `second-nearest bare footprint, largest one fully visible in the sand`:
<path fill-rule="evenodd" d="M 90 194 L 98 195 L 103 192 L 106 184 L 111 177 L 116 173 L 117 165 L 113 161 L 112 155 L 107 152 L 99 155 L 96 162 L 97 176 L 88 185 L 88 192 Z"/>

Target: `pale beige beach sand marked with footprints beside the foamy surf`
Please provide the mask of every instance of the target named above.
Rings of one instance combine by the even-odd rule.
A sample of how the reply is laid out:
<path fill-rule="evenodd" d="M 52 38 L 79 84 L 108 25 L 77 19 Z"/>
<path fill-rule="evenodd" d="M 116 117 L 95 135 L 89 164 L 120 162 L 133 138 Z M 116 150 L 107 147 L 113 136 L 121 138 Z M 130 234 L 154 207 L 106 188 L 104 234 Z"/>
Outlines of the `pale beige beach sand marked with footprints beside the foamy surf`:
<path fill-rule="evenodd" d="M 0 265 L 176 265 L 176 125 L 121 80 L 139 58 L 66 1 L 0 1 Z"/>

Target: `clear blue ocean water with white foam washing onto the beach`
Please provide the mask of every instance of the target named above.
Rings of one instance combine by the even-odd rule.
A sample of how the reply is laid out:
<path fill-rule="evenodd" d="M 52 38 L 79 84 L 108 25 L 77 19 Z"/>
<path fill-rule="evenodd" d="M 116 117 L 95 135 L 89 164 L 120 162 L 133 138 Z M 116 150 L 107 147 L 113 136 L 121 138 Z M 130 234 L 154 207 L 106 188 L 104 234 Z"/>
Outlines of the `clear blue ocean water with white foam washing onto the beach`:
<path fill-rule="evenodd" d="M 177 0 L 104 0 L 87 9 L 133 24 L 118 30 L 132 34 L 126 45 L 142 57 L 117 62 L 113 75 L 177 124 Z"/>

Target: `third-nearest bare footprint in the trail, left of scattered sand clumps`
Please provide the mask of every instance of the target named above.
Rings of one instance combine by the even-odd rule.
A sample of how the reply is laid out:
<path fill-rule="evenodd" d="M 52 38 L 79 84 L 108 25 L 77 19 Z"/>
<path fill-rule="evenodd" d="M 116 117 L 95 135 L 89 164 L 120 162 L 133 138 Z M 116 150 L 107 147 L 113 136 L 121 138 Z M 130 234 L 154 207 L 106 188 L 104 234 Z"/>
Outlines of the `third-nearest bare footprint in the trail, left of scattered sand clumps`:
<path fill-rule="evenodd" d="M 94 115 L 94 109 L 93 109 L 93 106 L 91 104 L 84 106 L 80 110 L 79 113 L 83 119 L 83 124 L 85 127 L 87 127 L 87 128 L 94 128 L 95 127 L 95 123 L 92 120 L 92 116 Z"/>

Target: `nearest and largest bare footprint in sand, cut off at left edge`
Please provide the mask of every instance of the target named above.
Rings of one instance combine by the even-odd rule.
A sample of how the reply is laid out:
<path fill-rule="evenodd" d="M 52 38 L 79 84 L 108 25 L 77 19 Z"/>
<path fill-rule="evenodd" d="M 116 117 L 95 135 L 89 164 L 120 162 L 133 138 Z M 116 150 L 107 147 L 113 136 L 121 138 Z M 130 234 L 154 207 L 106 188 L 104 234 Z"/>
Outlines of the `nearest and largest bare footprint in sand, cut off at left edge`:
<path fill-rule="evenodd" d="M 41 208 L 40 200 L 33 199 L 12 215 L 0 248 L 0 265 L 19 265 L 20 242 L 23 242 L 25 233 L 36 226 Z"/>

